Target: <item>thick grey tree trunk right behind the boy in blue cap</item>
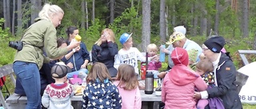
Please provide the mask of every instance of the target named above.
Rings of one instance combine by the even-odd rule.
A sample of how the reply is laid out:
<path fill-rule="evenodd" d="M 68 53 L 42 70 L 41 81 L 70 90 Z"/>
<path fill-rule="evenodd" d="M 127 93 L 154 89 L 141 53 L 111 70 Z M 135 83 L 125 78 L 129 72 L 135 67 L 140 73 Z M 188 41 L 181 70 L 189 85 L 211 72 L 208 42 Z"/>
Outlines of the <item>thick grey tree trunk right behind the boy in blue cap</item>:
<path fill-rule="evenodd" d="M 150 44 L 150 0 L 142 0 L 142 51 Z"/>

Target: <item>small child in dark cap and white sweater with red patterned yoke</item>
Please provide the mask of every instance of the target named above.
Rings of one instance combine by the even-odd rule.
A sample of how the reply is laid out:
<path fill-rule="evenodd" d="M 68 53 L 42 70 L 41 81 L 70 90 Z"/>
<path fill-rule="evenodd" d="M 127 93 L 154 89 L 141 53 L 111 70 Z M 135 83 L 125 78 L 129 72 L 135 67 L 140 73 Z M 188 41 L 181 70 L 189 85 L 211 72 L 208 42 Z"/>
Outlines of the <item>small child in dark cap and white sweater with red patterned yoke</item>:
<path fill-rule="evenodd" d="M 42 105 L 48 109 L 73 109 L 70 98 L 74 95 L 72 85 L 66 83 L 66 74 L 71 69 L 64 63 L 56 63 L 51 68 L 54 84 L 48 84 L 42 95 Z"/>

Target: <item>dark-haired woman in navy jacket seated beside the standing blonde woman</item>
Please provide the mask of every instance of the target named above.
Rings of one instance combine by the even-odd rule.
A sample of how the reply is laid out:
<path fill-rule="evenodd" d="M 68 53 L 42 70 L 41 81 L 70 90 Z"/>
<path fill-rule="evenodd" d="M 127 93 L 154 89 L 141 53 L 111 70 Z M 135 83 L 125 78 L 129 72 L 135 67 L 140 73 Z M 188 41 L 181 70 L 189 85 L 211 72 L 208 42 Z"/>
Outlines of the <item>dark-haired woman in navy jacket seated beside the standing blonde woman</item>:
<path fill-rule="evenodd" d="M 67 45 L 70 45 L 70 42 L 74 39 L 76 35 L 78 35 L 79 30 L 75 26 L 70 26 L 66 29 L 66 33 L 68 39 L 66 40 Z M 72 72 L 68 73 L 67 78 L 72 78 L 73 75 L 78 75 L 82 72 L 83 76 L 86 76 L 88 70 L 86 69 L 87 64 L 90 62 L 90 54 L 86 49 L 86 44 L 81 42 L 80 45 L 74 49 L 70 50 L 68 54 L 66 54 L 62 61 L 72 69 Z"/>

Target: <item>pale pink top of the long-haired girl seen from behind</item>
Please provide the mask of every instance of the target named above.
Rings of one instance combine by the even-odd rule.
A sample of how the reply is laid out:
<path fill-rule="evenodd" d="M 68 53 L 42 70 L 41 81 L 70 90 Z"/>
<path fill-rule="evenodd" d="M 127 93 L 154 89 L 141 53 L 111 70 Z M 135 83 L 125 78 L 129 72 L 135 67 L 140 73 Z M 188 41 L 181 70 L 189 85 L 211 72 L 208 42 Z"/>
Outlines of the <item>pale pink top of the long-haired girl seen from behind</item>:
<path fill-rule="evenodd" d="M 114 81 L 114 84 L 118 86 L 120 81 Z M 138 88 L 127 91 L 118 86 L 119 94 L 122 97 L 122 109 L 141 109 L 142 97 Z"/>

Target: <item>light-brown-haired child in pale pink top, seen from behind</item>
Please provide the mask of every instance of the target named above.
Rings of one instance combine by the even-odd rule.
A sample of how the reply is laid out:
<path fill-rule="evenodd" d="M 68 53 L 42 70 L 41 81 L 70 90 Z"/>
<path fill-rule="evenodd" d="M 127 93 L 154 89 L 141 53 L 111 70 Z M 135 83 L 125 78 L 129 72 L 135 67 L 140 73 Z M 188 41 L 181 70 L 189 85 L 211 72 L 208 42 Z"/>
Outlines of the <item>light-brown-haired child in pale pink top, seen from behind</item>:
<path fill-rule="evenodd" d="M 138 80 L 133 66 L 121 64 L 118 67 L 118 77 L 114 84 L 122 96 L 122 109 L 140 109 L 142 107 Z"/>

